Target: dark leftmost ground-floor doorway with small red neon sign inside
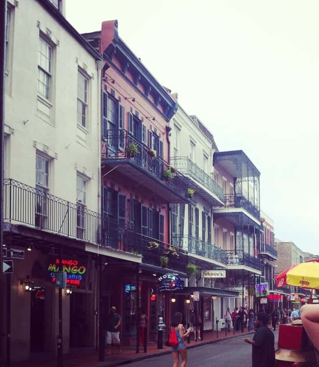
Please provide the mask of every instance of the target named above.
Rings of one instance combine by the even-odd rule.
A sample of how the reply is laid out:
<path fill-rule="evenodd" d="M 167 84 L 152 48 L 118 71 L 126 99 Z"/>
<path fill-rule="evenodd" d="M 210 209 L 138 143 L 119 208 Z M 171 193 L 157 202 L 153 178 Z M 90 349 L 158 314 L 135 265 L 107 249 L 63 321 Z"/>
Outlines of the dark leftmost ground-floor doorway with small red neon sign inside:
<path fill-rule="evenodd" d="M 31 291 L 31 319 L 30 319 L 30 352 L 44 351 L 45 329 L 45 290 L 44 288 Z"/>

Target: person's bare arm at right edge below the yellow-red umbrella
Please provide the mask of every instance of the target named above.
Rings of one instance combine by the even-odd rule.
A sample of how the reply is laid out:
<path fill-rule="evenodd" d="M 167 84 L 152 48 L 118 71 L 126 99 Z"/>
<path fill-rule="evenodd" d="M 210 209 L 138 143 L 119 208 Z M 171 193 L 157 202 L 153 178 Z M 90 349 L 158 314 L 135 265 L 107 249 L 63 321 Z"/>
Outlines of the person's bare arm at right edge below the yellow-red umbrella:
<path fill-rule="evenodd" d="M 302 325 L 309 339 L 319 350 L 319 305 L 304 305 L 301 307 Z"/>

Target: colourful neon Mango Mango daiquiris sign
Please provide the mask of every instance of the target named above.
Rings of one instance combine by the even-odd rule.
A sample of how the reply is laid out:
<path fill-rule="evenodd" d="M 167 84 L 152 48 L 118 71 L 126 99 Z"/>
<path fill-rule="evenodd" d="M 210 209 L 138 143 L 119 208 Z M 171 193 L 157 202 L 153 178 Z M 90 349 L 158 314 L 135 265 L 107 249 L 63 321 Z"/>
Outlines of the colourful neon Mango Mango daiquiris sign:
<path fill-rule="evenodd" d="M 58 271 L 65 271 L 67 273 L 66 283 L 80 286 L 83 275 L 86 272 L 86 267 L 83 265 L 79 266 L 78 260 L 62 260 L 62 267 L 60 270 L 60 261 L 56 259 L 55 262 L 49 264 L 48 271 L 50 271 L 50 277 L 53 283 L 55 282 L 55 273 Z"/>

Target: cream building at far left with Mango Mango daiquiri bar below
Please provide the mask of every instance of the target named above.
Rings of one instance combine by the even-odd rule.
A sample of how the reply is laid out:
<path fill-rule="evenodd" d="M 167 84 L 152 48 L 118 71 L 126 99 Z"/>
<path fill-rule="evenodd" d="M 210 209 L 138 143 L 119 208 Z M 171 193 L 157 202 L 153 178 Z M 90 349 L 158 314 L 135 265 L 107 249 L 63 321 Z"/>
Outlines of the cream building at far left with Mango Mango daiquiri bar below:
<path fill-rule="evenodd" d="M 70 325 L 82 308 L 87 346 L 96 345 L 96 273 L 84 249 L 99 233 L 104 63 L 63 11 L 64 0 L 8 0 L 4 243 L 8 250 L 32 250 L 14 259 L 14 273 L 6 277 L 11 360 L 56 350 L 55 273 L 48 266 L 56 263 L 59 246 L 63 259 L 77 262 L 76 270 L 85 262 L 85 274 L 77 275 L 82 293 L 63 296 L 63 351 L 80 344 Z M 37 288 L 26 292 L 30 279 Z M 69 285 L 75 281 L 68 279 Z"/>

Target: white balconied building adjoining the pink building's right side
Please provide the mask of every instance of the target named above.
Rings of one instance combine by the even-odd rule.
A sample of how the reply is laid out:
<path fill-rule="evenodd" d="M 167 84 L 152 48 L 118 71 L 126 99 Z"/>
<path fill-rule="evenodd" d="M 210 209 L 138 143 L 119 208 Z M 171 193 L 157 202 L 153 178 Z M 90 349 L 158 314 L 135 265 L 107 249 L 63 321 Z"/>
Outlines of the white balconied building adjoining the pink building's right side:
<path fill-rule="evenodd" d="M 170 162 L 195 189 L 191 204 L 171 205 L 172 243 L 187 250 L 189 262 L 197 267 L 196 275 L 189 276 L 185 291 L 189 295 L 199 291 L 200 301 L 196 303 L 190 297 L 186 315 L 190 318 L 197 306 L 204 329 L 208 330 L 215 327 L 216 317 L 223 319 L 224 297 L 238 295 L 237 291 L 214 288 L 215 279 L 204 278 L 205 270 L 227 266 L 226 252 L 213 245 L 213 207 L 224 206 L 223 189 L 213 181 L 213 153 L 217 147 L 212 133 L 196 116 L 188 116 L 180 105 L 170 121 L 170 128 Z M 235 305 L 235 300 L 233 303 Z"/>

